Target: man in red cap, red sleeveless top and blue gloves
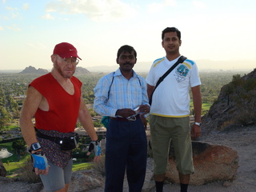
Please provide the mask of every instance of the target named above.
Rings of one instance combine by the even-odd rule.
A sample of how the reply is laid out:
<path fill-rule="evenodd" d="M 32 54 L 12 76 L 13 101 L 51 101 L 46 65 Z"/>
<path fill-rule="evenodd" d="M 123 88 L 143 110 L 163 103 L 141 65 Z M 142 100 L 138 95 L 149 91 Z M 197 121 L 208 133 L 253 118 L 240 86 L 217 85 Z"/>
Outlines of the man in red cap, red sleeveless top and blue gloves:
<path fill-rule="evenodd" d="M 72 171 L 71 151 L 77 146 L 77 119 L 90 135 L 98 161 L 98 136 L 82 98 L 82 82 L 73 76 L 78 51 L 67 42 L 54 47 L 49 74 L 34 79 L 23 102 L 20 127 L 46 191 L 67 191 Z M 81 60 L 81 58 L 79 58 Z M 35 117 L 35 127 L 31 119 Z M 100 150 L 99 150 L 100 151 Z"/>

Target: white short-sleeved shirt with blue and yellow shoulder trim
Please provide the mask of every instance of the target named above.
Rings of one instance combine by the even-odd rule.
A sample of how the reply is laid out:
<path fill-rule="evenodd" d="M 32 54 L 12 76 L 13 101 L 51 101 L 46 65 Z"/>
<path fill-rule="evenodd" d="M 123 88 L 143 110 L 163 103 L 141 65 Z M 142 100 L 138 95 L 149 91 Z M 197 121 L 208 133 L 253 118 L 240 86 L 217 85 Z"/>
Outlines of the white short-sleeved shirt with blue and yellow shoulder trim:
<path fill-rule="evenodd" d="M 178 57 L 179 58 L 179 57 Z M 155 86 L 158 79 L 178 61 L 158 58 L 150 68 L 146 82 Z M 190 115 L 190 87 L 201 85 L 198 67 L 186 59 L 166 76 L 154 91 L 150 114 L 162 117 L 182 118 Z"/>

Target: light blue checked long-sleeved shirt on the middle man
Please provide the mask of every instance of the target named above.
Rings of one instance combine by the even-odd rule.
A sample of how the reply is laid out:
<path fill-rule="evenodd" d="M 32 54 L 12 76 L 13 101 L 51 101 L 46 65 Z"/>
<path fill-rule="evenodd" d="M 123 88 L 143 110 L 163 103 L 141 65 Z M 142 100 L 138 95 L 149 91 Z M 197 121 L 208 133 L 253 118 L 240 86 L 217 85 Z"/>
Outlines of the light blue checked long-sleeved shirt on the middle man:
<path fill-rule="evenodd" d="M 98 81 L 94 88 L 96 113 L 116 117 L 117 110 L 125 108 L 133 110 L 139 105 L 150 106 L 145 78 L 136 74 L 134 70 L 133 73 L 134 76 L 128 80 L 118 69 Z"/>

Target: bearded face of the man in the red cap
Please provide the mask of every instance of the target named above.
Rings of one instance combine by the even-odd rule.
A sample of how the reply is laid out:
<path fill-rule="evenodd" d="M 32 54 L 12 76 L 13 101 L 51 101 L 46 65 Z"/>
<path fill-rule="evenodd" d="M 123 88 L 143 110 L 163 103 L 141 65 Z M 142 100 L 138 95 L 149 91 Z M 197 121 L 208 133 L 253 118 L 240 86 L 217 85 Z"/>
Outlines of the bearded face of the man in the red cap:
<path fill-rule="evenodd" d="M 63 78 L 71 78 L 76 69 L 77 58 L 61 58 L 56 55 L 54 59 L 54 68 L 58 70 L 58 73 L 62 75 Z"/>

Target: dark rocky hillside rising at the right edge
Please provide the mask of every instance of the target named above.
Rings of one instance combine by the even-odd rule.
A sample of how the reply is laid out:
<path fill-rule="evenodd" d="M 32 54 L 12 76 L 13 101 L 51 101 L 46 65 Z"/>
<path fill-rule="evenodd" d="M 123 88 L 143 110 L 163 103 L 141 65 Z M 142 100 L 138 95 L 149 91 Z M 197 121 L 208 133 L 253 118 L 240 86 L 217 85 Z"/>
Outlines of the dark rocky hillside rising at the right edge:
<path fill-rule="evenodd" d="M 243 77 L 233 75 L 222 86 L 218 99 L 202 117 L 202 130 L 227 131 L 236 127 L 256 125 L 256 69 Z"/>

